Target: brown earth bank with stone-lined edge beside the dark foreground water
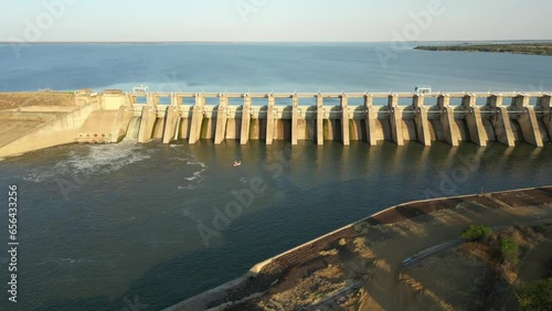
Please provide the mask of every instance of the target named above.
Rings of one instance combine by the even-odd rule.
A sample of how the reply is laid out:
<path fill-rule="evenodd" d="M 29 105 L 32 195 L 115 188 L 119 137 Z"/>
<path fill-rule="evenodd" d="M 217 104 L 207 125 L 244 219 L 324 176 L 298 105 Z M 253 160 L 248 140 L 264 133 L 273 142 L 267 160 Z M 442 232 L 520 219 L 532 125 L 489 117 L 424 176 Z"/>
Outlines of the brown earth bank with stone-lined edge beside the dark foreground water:
<path fill-rule="evenodd" d="M 507 227 L 551 219 L 552 186 L 407 203 L 270 258 L 243 278 L 167 310 L 465 310 L 459 301 L 478 290 L 473 277 L 480 265 L 456 258 L 450 262 L 458 266 L 440 275 L 435 269 L 435 276 L 459 278 L 453 282 L 466 287 L 465 296 L 455 296 L 440 290 L 444 282 L 432 283 L 432 276 L 406 274 L 403 260 L 457 239 L 471 224 Z M 420 261 L 438 262 L 442 251 Z"/>

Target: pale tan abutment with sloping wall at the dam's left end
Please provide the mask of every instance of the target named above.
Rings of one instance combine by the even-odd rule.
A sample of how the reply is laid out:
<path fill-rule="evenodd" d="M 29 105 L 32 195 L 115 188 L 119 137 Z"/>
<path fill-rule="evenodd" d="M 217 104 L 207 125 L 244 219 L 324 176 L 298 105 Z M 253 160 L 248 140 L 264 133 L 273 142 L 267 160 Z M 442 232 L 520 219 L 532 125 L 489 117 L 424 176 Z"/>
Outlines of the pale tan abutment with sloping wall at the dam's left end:
<path fill-rule="evenodd" d="M 105 107 L 100 104 L 102 95 L 91 90 L 0 94 L 0 97 L 23 98 L 23 105 L 17 108 L 0 107 L 3 126 L 0 158 L 75 142 L 118 142 L 126 136 L 131 118 L 126 107 Z M 35 101 L 34 105 L 25 105 L 30 100 Z"/>

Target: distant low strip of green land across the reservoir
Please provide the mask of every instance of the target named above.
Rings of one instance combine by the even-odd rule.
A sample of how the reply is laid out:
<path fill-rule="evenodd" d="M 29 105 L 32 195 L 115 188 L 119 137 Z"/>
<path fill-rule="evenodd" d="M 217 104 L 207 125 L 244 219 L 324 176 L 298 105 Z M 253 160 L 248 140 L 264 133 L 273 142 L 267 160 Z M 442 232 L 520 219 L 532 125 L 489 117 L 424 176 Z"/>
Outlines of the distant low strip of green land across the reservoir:
<path fill-rule="evenodd" d="M 414 50 L 491 52 L 552 56 L 552 43 L 509 43 L 509 44 L 460 44 L 460 45 L 422 45 Z"/>

